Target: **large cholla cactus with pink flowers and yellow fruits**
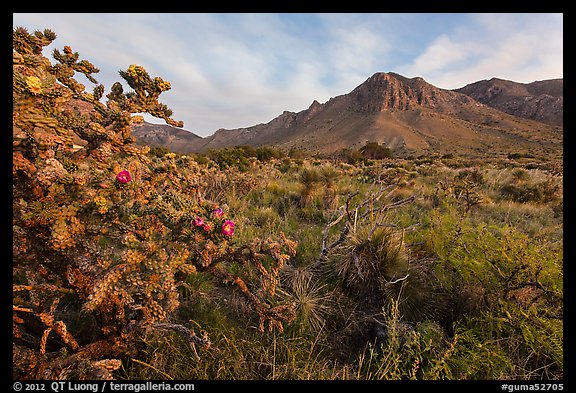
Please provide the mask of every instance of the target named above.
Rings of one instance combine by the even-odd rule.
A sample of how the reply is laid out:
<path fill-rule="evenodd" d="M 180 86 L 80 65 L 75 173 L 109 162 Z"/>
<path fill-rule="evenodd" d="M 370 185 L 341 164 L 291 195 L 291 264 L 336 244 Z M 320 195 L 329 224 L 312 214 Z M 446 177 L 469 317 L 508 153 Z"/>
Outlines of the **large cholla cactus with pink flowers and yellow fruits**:
<path fill-rule="evenodd" d="M 14 356 L 27 359 L 14 377 L 68 375 L 74 359 L 116 367 L 112 358 L 132 353 L 139 332 L 159 326 L 208 344 L 166 324 L 179 306 L 178 282 L 197 271 L 232 283 L 262 331 L 289 323 L 291 305 L 272 307 L 269 298 L 295 244 L 284 237 L 233 244 L 238 228 L 226 206 L 201 197 L 198 166 L 168 155 L 153 160 L 133 144 L 130 127 L 141 121 L 134 113 L 182 126 L 158 102 L 170 84 L 131 65 L 120 75 L 133 91 L 116 83 L 102 103 L 90 62 L 67 46 L 53 52 L 55 65 L 42 55 L 53 32 L 19 27 L 13 37 Z M 96 84 L 92 93 L 74 79 L 78 72 Z M 233 264 L 245 274 L 230 273 Z M 91 318 L 79 327 L 73 311 Z M 82 330 L 91 334 L 77 337 Z M 63 345 L 74 355 L 58 351 Z"/>

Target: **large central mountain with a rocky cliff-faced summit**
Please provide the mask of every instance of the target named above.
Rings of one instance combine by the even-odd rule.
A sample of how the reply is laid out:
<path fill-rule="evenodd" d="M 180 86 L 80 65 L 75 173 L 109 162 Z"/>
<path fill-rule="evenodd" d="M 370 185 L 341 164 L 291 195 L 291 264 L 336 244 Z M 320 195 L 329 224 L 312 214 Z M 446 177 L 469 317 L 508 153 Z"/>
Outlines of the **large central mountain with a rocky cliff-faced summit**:
<path fill-rule="evenodd" d="M 308 109 L 285 111 L 265 124 L 220 129 L 189 148 L 275 145 L 330 154 L 366 142 L 385 143 L 396 155 L 557 150 L 562 147 L 562 129 L 510 115 L 420 77 L 379 72 L 323 104 L 313 101 Z"/>

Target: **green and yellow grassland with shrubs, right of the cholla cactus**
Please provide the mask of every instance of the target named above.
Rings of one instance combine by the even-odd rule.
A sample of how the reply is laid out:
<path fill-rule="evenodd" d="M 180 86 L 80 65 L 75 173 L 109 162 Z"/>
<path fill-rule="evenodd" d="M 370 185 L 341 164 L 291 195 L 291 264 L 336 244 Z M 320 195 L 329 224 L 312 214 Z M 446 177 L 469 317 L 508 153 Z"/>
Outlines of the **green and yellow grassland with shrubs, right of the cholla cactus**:
<path fill-rule="evenodd" d="M 285 158 L 210 174 L 211 184 L 218 178 L 228 187 L 221 191 L 234 190 L 218 195 L 236 219 L 239 242 L 280 232 L 298 242 L 276 295 L 294 303 L 295 321 L 261 334 L 240 295 L 198 273 L 182 288 L 176 318 L 206 332 L 211 347 L 151 334 L 119 378 L 563 378 L 562 192 L 552 186 L 561 178 L 457 158 L 444 160 L 450 166 L 318 161 Z M 464 178 L 476 182 L 479 197 L 466 208 L 454 191 Z M 239 192 L 247 179 L 250 188 Z M 355 231 L 329 253 L 328 265 L 318 264 L 324 230 L 345 212 L 348 196 L 357 193 L 348 201 L 352 211 L 386 184 L 397 186 L 366 209 L 414 200 L 379 216 L 385 226 L 375 231 L 378 217 L 356 217 Z M 528 197 L 514 199 L 510 184 L 549 188 L 544 198 L 527 189 Z M 331 238 L 345 221 L 330 228 Z"/>

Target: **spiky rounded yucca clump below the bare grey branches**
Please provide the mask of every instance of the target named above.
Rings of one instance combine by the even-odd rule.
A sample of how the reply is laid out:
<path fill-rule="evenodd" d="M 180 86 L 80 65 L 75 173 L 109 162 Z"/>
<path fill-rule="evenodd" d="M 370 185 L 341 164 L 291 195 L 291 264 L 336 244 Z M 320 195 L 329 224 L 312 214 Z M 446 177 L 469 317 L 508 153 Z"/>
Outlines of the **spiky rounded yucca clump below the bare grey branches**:
<path fill-rule="evenodd" d="M 414 259 L 403 232 L 390 227 L 358 228 L 330 258 L 334 274 L 353 298 L 380 307 L 399 301 L 403 318 L 440 317 L 444 294 L 436 287 L 433 259 Z"/>

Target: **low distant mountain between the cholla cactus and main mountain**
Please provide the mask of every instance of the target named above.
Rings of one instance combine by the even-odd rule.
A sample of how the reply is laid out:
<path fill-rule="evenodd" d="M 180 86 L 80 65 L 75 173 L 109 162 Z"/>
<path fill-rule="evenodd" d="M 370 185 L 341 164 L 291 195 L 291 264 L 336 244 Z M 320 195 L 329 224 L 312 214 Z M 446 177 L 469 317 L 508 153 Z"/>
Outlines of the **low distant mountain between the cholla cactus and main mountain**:
<path fill-rule="evenodd" d="M 168 124 L 152 124 L 144 121 L 131 129 L 132 136 L 140 145 L 167 147 L 176 153 L 189 153 L 190 146 L 202 137 Z"/>

